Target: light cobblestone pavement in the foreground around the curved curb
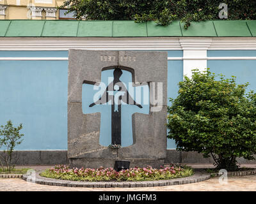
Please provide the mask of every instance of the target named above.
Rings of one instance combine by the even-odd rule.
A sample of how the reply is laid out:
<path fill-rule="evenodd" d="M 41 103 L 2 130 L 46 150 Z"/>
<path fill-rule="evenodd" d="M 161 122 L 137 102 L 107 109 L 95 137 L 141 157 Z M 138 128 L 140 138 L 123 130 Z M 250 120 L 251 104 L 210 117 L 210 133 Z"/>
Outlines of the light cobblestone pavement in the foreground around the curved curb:
<path fill-rule="evenodd" d="M 251 164 L 247 167 L 255 167 Z M 194 166 L 196 168 L 198 166 Z M 33 166 L 36 170 L 47 167 Z M 202 168 L 202 166 L 200 166 Z M 0 191 L 256 191 L 256 175 L 241 177 L 228 177 L 227 184 L 220 184 L 219 178 L 213 178 L 195 184 L 161 187 L 136 188 L 86 188 L 86 187 L 60 187 L 33 184 L 22 179 L 0 179 Z"/>

